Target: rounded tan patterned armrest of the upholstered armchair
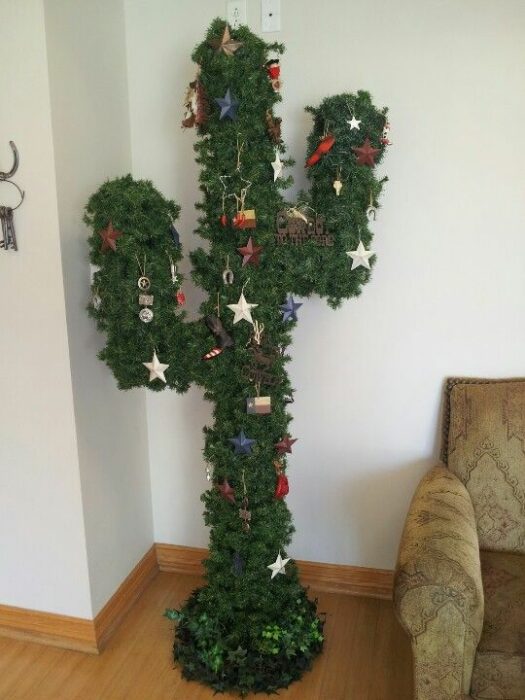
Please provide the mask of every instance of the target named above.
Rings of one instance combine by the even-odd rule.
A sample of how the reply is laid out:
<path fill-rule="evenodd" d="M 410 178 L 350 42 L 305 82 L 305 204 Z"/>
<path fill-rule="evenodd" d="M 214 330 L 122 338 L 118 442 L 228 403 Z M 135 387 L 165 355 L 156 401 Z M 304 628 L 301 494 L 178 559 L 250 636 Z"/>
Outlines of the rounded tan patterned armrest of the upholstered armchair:
<path fill-rule="evenodd" d="M 394 607 L 412 640 L 417 700 L 468 695 L 483 627 L 483 584 L 472 501 L 446 467 L 422 479 L 410 504 Z"/>

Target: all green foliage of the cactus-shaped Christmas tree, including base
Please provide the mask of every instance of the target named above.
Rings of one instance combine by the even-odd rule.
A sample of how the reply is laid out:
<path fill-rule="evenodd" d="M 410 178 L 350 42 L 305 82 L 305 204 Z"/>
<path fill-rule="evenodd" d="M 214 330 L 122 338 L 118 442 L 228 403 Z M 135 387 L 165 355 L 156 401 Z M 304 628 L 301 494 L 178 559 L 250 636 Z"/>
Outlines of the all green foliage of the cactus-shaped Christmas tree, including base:
<path fill-rule="evenodd" d="M 332 247 L 320 247 L 314 241 L 302 246 L 278 245 L 275 241 L 277 213 L 288 207 L 281 190 L 291 178 L 274 183 L 271 162 L 276 146 L 267 132 L 267 114 L 281 99 L 271 87 L 264 65 L 268 58 L 282 53 L 279 44 L 265 44 L 248 28 L 232 32 L 243 46 L 234 56 L 217 53 L 210 41 L 219 39 L 224 21 L 215 20 L 194 54 L 200 66 L 200 81 L 209 104 L 209 119 L 198 127 L 195 145 L 201 165 L 202 202 L 197 233 L 207 241 L 206 249 L 191 254 L 193 279 L 208 294 L 201 305 L 203 316 L 217 313 L 235 346 L 210 361 L 200 358 L 216 341 L 202 321 L 182 323 L 169 297 L 172 292 L 165 248 L 174 259 L 180 251 L 171 244 L 169 219 L 178 208 L 166 202 L 150 183 L 134 183 L 123 178 L 106 183 L 88 205 L 88 223 L 95 233 L 90 239 L 91 259 L 103 264 L 95 284 L 103 297 L 99 313 L 91 309 L 99 328 L 108 334 L 108 344 L 101 354 L 113 369 L 119 386 L 163 388 L 160 381 L 149 384 L 141 362 L 151 359 L 157 348 L 162 362 L 168 362 L 168 384 L 177 390 L 195 381 L 204 388 L 205 397 L 214 403 L 214 422 L 205 428 L 204 457 L 213 467 L 213 483 L 202 495 L 205 522 L 210 527 L 209 556 L 204 562 L 206 586 L 192 594 L 181 610 L 168 610 L 166 615 L 177 623 L 174 655 L 189 679 L 198 679 L 217 691 L 232 690 L 242 695 L 250 691 L 276 692 L 301 677 L 320 652 L 323 623 L 316 613 L 316 603 L 308 599 L 298 578 L 293 561 L 286 565 L 286 574 L 270 578 L 268 565 L 281 552 L 286 556 L 293 533 L 293 524 L 286 502 L 274 496 L 277 458 L 275 443 L 289 430 L 291 421 L 286 411 L 292 387 L 286 373 L 289 360 L 286 347 L 291 342 L 294 323 L 283 322 L 280 305 L 289 293 L 308 297 L 313 293 L 327 297 L 335 307 L 345 298 L 360 293 L 369 280 L 364 268 L 350 271 L 346 255 L 354 250 L 359 239 L 368 247 L 366 208 L 370 194 L 374 204 L 382 182 L 374 170 L 359 166 L 352 146 L 361 146 L 368 136 L 379 147 L 386 111 L 379 112 L 365 92 L 339 95 L 324 100 L 318 109 L 308 108 L 314 115 L 314 128 L 309 137 L 308 153 L 315 150 L 326 131 L 336 137 L 330 153 L 309 171 L 311 193 L 303 197 L 306 213 L 312 210 L 325 217 L 327 229 L 334 236 Z M 230 89 L 239 100 L 236 120 L 219 119 L 214 98 L 223 97 Z M 350 131 L 347 119 L 355 110 L 362 120 L 359 131 Z M 238 152 L 238 146 L 241 152 Z M 280 144 L 285 164 L 285 147 Z M 376 159 L 381 160 L 381 153 Z M 238 166 L 239 161 L 239 167 Z M 341 170 L 343 190 L 339 197 L 333 182 Z M 255 209 L 254 230 L 223 227 L 223 176 L 227 194 L 246 192 L 245 208 Z M 231 221 L 236 212 L 234 197 L 227 196 L 225 209 Z M 125 232 L 118 241 L 118 255 L 99 253 L 96 232 L 113 221 Z M 260 265 L 242 267 L 237 252 L 252 236 L 263 246 Z M 150 326 L 137 320 L 136 281 L 138 266 L 135 253 L 148 251 L 148 275 L 151 274 L 155 297 L 155 319 Z M 231 286 L 225 285 L 222 272 L 226 261 L 234 273 Z M 156 285 L 159 285 L 158 288 Z M 228 304 L 236 304 L 244 290 L 248 302 L 258 304 L 252 310 L 255 321 L 264 325 L 262 350 L 270 357 L 273 382 L 260 387 L 261 395 L 271 396 L 270 415 L 249 415 L 246 399 L 256 394 L 247 378 L 246 368 L 254 361 L 253 327 L 241 320 L 233 324 Z M 301 310 L 299 310 L 299 318 Z M 239 431 L 254 439 L 249 455 L 235 455 L 230 438 Z M 287 471 L 281 458 L 283 473 Z M 301 478 L 291 478 L 291 488 Z M 224 498 L 217 486 L 227 479 L 235 489 L 235 503 Z M 239 509 L 246 485 L 251 527 L 244 531 Z"/>

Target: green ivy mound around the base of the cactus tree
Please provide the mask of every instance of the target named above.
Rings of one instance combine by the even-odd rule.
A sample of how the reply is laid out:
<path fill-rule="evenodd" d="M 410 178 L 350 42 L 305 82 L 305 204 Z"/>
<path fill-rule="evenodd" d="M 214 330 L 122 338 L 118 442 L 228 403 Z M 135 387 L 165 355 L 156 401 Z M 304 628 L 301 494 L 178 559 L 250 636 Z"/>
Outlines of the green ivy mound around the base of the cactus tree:
<path fill-rule="evenodd" d="M 310 669 L 323 647 L 324 622 L 305 589 L 294 584 L 282 615 L 230 610 L 221 620 L 207 588 L 195 590 L 180 610 L 166 616 L 177 621 L 173 653 L 187 680 L 216 692 L 275 693 Z"/>

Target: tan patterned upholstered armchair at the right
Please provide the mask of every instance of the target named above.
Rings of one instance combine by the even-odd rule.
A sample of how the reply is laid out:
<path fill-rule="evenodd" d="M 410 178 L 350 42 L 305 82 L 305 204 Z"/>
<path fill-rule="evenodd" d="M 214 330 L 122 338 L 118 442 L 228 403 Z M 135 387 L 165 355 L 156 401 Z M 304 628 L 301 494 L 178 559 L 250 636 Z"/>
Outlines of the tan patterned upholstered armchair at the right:
<path fill-rule="evenodd" d="M 415 699 L 525 700 L 525 380 L 449 380 L 443 423 L 395 573 Z"/>

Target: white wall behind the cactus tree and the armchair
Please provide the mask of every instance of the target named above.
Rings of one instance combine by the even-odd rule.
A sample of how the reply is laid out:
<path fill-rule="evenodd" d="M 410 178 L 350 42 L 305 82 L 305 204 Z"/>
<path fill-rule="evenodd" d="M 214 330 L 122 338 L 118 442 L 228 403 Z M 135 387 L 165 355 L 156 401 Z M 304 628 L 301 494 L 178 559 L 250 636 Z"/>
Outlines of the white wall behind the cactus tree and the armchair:
<path fill-rule="evenodd" d="M 223 0 L 127 0 L 133 169 L 183 207 L 198 197 L 182 131 L 190 53 Z M 248 0 L 259 30 L 260 2 Z M 282 0 L 280 114 L 297 188 L 325 95 L 369 89 L 391 109 L 378 263 L 360 299 L 301 309 L 289 504 L 294 556 L 392 566 L 417 480 L 438 454 L 446 376 L 521 375 L 525 324 L 525 4 L 521 0 Z M 195 308 L 198 294 L 192 296 Z M 148 396 L 155 537 L 203 545 L 198 391 Z"/>

